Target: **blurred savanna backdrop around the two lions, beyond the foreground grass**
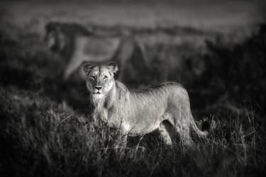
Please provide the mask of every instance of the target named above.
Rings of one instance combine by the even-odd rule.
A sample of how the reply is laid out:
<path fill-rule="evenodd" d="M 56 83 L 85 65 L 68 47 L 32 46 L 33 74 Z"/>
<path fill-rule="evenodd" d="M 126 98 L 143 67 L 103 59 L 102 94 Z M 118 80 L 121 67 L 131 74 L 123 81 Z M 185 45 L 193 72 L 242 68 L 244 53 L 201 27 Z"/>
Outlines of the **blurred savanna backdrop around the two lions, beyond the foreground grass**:
<path fill-rule="evenodd" d="M 143 74 L 144 83 L 127 82 L 129 89 L 177 81 L 189 92 L 196 120 L 252 115 L 263 137 L 265 7 L 263 0 L 1 1 L 1 127 L 27 106 L 48 103 L 63 109 L 66 101 L 74 115 L 90 113 L 84 81 L 70 77 L 66 84 L 64 59 L 43 40 L 45 25 L 55 21 L 104 35 L 133 35 L 150 70 Z"/>

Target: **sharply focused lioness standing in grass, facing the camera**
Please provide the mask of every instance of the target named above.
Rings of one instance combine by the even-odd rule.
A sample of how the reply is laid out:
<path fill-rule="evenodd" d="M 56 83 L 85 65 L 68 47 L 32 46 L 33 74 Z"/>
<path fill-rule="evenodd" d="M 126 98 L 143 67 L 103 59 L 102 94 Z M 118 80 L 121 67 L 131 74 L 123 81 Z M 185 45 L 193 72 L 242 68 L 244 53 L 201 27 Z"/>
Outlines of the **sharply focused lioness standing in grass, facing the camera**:
<path fill-rule="evenodd" d="M 111 127 L 120 128 L 123 144 L 127 135 L 145 135 L 160 130 L 166 144 L 172 145 L 170 126 L 179 133 L 182 144 L 190 146 L 192 127 L 200 137 L 208 132 L 196 126 L 190 110 L 189 96 L 180 84 L 166 82 L 140 91 L 128 91 L 113 78 L 117 64 L 83 65 L 87 74 L 87 89 L 94 105 L 92 118 L 101 119 Z"/>

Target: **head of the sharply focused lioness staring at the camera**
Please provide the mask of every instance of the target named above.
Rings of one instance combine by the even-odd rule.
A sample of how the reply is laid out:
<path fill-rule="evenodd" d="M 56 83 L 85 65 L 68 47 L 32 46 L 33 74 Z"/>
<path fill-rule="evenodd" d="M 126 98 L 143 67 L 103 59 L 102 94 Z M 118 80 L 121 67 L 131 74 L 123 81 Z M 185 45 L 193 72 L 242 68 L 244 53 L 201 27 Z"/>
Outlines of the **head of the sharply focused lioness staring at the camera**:
<path fill-rule="evenodd" d="M 92 96 L 100 98 L 108 93 L 115 84 L 114 74 L 118 71 L 115 62 L 109 64 L 92 64 L 85 62 L 83 70 L 87 76 L 87 89 Z"/>

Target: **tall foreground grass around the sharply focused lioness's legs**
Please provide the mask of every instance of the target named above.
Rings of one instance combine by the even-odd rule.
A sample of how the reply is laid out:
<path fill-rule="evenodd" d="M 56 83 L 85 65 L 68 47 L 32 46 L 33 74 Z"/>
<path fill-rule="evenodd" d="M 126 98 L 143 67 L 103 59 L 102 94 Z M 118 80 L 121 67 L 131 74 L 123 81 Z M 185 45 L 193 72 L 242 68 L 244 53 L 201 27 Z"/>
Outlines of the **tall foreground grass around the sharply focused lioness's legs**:
<path fill-rule="evenodd" d="M 249 108 L 211 116 L 213 131 L 206 140 L 194 136 L 192 149 L 178 139 L 170 149 L 155 132 L 130 138 L 116 152 L 116 130 L 94 125 L 88 115 L 67 114 L 49 98 L 11 90 L 0 92 L 1 115 L 9 119 L 1 128 L 1 173 L 7 176 L 249 176 L 265 167 L 264 130 Z"/>

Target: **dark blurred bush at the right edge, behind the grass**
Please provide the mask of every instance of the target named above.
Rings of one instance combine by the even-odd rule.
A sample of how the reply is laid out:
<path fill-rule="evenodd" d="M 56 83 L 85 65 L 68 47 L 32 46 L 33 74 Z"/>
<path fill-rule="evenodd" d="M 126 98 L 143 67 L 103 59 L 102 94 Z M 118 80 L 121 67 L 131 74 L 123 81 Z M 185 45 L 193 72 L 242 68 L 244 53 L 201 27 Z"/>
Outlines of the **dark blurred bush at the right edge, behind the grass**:
<path fill-rule="evenodd" d="M 266 107 L 266 25 L 238 45 L 206 41 L 209 53 L 204 56 L 206 70 L 194 87 L 207 90 L 204 98 L 212 103 L 231 102 L 238 106 L 252 101 Z M 257 106 L 258 105 L 258 106 Z"/>

